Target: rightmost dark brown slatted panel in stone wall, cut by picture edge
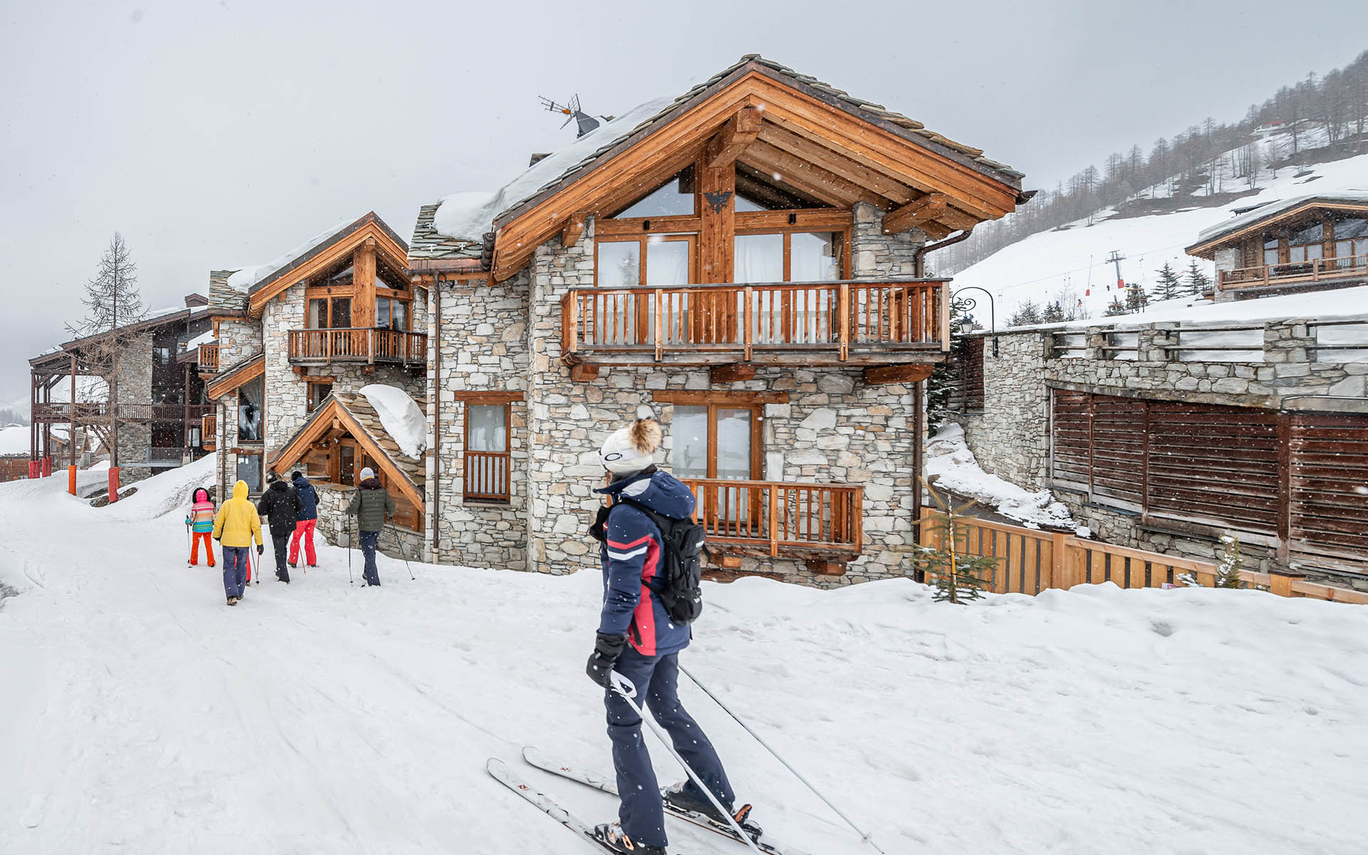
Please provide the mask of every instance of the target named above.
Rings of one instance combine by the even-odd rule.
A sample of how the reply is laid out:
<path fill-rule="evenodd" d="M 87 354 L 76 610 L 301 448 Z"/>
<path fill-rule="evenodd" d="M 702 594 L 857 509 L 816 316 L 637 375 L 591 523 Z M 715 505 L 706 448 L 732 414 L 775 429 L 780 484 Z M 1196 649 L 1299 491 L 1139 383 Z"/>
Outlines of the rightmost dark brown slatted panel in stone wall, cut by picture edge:
<path fill-rule="evenodd" d="M 1293 415 L 1290 468 L 1290 550 L 1368 561 L 1368 416 Z"/>

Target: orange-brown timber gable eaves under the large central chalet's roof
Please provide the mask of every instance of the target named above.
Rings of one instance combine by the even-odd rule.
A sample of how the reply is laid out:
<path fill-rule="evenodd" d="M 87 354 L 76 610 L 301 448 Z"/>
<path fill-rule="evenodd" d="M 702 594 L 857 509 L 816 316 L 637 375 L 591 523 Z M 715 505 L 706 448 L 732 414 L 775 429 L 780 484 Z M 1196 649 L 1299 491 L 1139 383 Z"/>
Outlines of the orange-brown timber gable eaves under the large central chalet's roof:
<path fill-rule="evenodd" d="M 555 234 L 577 234 L 586 216 L 617 211 L 642 187 L 696 163 L 773 175 L 839 208 L 869 202 L 888 212 L 885 231 L 919 227 L 933 238 L 999 219 L 1027 198 L 1018 174 L 964 155 L 977 149 L 911 133 L 852 103 L 770 66 L 743 63 L 501 215 L 494 279 L 521 269 Z"/>

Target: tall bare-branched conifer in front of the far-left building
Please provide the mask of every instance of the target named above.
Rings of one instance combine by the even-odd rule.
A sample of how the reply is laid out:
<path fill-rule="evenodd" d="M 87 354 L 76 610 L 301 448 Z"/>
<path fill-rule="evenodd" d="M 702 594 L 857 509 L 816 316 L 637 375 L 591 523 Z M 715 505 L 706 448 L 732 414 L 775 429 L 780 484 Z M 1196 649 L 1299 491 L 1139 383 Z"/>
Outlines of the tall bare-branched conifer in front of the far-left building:
<path fill-rule="evenodd" d="M 142 295 L 138 293 L 138 265 L 118 231 L 108 249 L 100 256 L 100 271 L 86 282 L 81 304 L 86 316 L 67 330 L 78 337 L 93 337 L 83 347 L 85 358 L 97 367 L 109 395 L 109 425 L 104 443 L 109 449 L 109 465 L 119 465 L 119 363 L 131 343 L 123 332 L 130 324 L 146 317 Z"/>

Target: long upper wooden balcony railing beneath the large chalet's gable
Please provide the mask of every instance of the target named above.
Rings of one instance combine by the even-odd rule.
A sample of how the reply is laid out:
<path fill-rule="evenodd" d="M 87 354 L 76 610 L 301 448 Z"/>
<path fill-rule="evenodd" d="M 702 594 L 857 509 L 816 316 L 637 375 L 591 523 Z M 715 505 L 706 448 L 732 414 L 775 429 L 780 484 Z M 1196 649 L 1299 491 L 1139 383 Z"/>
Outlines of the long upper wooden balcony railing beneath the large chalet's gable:
<path fill-rule="evenodd" d="M 948 308 L 944 279 L 573 289 L 561 347 L 599 365 L 936 363 Z"/>

